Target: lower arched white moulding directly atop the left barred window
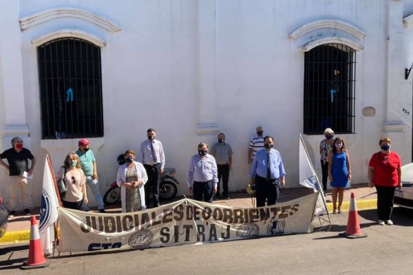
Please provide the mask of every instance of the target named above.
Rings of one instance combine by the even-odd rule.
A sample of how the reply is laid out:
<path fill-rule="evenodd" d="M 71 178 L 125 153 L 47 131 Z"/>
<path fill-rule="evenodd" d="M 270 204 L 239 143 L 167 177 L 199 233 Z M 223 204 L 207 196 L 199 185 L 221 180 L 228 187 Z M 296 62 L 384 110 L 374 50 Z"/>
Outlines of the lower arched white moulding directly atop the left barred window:
<path fill-rule="evenodd" d="M 94 45 L 98 47 L 104 47 L 106 45 L 106 41 L 103 39 L 98 38 L 97 36 L 94 36 L 93 34 L 89 34 L 87 32 L 83 32 L 80 30 L 59 30 L 56 32 L 50 32 L 48 34 L 45 34 L 43 36 L 40 36 L 36 39 L 32 40 L 32 44 L 36 47 L 43 45 L 44 43 L 47 43 L 49 41 L 55 40 L 55 39 L 61 39 L 64 37 L 74 37 L 78 39 L 83 39 L 86 41 L 89 41 L 91 43 L 94 43 Z"/>

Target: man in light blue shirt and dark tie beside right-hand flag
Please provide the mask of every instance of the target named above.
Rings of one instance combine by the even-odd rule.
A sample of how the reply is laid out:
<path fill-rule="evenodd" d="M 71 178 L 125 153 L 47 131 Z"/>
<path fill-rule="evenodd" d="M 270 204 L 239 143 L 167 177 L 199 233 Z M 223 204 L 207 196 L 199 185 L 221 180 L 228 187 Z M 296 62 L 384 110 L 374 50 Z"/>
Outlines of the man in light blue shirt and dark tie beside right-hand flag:
<path fill-rule="evenodd" d="M 255 181 L 255 197 L 257 207 L 271 206 L 277 203 L 279 188 L 286 184 L 284 165 L 281 154 L 273 149 L 274 138 L 264 138 L 264 149 L 257 151 L 249 173 L 250 184 Z"/>

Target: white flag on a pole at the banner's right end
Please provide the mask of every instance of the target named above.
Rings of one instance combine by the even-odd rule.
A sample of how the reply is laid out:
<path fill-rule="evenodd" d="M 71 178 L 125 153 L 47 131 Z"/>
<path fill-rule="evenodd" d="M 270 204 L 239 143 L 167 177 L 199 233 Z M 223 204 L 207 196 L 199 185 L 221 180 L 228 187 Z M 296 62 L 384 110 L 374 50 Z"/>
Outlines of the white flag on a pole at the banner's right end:
<path fill-rule="evenodd" d="M 313 188 L 314 192 L 319 191 L 319 197 L 317 198 L 315 206 L 315 215 L 319 216 L 327 213 L 326 199 L 324 198 L 317 174 L 308 156 L 306 144 L 304 144 L 301 134 L 299 135 L 299 184 Z"/>

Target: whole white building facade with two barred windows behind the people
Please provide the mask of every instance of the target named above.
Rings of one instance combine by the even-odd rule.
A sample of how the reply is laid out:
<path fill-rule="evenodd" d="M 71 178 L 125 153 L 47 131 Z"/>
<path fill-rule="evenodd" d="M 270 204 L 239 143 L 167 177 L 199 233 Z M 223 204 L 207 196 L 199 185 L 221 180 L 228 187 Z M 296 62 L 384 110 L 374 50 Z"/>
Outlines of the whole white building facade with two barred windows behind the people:
<path fill-rule="evenodd" d="M 230 190 L 248 184 L 255 126 L 275 137 L 286 186 L 299 186 L 299 133 L 321 179 L 319 142 L 346 142 L 366 182 L 381 137 L 412 161 L 413 0 L 1 0 L 0 151 L 23 138 L 57 170 L 92 141 L 100 190 L 148 128 L 187 190 L 199 142 L 231 144 Z M 0 180 L 8 174 L 0 170 Z M 6 184 L 0 184 L 8 199 Z M 89 196 L 92 197 L 92 196 Z M 91 198 L 93 199 L 93 198 Z M 92 201 L 93 202 L 93 201 Z"/>

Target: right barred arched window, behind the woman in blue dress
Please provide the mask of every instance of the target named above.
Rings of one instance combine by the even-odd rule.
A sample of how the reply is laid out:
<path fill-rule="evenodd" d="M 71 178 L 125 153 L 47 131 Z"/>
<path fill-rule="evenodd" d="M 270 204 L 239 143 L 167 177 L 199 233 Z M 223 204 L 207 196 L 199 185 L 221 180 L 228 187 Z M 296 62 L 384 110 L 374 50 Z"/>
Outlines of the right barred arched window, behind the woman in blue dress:
<path fill-rule="evenodd" d="M 356 52 L 331 43 L 304 56 L 304 133 L 354 133 Z"/>

